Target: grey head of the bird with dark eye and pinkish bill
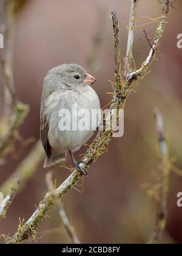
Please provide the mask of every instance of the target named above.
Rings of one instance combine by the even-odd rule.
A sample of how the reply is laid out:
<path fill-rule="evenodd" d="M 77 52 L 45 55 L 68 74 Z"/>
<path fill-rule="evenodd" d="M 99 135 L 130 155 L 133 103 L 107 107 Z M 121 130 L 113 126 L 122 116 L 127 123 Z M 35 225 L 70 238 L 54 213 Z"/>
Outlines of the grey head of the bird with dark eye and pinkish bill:
<path fill-rule="evenodd" d="M 47 78 L 51 79 L 53 84 L 58 83 L 71 88 L 92 85 L 96 82 L 93 76 L 87 74 L 86 70 L 77 64 L 59 65 L 49 71 Z"/>

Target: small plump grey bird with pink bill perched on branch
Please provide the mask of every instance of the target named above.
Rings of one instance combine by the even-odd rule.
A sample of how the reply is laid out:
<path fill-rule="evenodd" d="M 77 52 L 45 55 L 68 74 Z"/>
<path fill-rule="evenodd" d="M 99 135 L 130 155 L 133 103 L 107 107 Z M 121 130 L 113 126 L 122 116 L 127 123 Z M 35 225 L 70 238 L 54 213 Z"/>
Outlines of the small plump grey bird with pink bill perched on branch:
<path fill-rule="evenodd" d="M 71 128 L 78 124 L 80 118 L 73 111 L 100 109 L 100 102 L 95 90 L 89 85 L 96 79 L 87 74 L 86 70 L 77 64 L 62 64 L 50 69 L 44 78 L 41 97 L 41 140 L 46 158 L 44 168 L 53 166 L 66 160 L 69 151 L 75 168 L 87 175 L 81 167 L 81 162 L 76 162 L 73 152 L 78 151 L 99 126 L 98 118 L 92 129 L 59 129 L 59 111 L 69 110 Z M 90 121 L 90 116 L 86 116 Z M 76 126 L 77 127 L 77 126 Z"/>

